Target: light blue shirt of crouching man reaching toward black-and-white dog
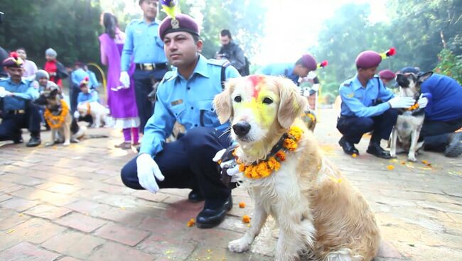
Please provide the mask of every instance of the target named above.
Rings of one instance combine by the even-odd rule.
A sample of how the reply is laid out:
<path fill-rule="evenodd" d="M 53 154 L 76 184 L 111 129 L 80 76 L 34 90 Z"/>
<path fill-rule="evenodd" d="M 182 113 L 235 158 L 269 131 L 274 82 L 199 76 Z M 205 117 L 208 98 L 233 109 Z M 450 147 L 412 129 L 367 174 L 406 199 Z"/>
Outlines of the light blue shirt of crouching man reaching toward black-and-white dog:
<path fill-rule="evenodd" d="M 390 104 L 385 102 L 393 98 L 393 93 L 387 89 L 377 75 L 367 82 L 365 88 L 362 87 L 358 74 L 340 84 L 340 98 L 342 99 L 342 116 L 372 117 L 377 116 L 388 109 Z M 382 100 L 382 104 L 377 104 L 377 100 Z"/>

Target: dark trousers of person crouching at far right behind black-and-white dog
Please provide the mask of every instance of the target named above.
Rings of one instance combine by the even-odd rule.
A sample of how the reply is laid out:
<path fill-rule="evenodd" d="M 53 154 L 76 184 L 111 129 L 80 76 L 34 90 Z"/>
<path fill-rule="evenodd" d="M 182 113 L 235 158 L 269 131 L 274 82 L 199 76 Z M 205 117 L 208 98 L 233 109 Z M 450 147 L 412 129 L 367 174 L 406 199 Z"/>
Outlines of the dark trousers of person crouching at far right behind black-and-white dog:
<path fill-rule="evenodd" d="M 424 150 L 444 151 L 449 144 L 449 135 L 462 128 L 462 118 L 451 121 L 424 121 L 420 137 L 424 138 Z"/>

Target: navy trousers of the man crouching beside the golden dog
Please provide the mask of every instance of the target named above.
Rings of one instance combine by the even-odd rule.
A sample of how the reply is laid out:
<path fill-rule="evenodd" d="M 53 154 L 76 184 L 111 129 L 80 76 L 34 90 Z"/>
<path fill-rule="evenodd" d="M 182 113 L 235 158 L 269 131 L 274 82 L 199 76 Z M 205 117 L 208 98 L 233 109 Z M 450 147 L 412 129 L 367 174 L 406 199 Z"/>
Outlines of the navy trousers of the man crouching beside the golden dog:
<path fill-rule="evenodd" d="M 195 189 L 205 196 L 205 207 L 214 208 L 222 204 L 231 190 L 220 180 L 216 152 L 231 145 L 228 135 L 214 128 L 198 127 L 186 132 L 173 143 L 164 143 L 163 150 L 154 160 L 165 179 L 160 188 Z M 131 189 L 141 187 L 136 174 L 136 157 L 130 160 L 121 172 L 122 182 Z"/>

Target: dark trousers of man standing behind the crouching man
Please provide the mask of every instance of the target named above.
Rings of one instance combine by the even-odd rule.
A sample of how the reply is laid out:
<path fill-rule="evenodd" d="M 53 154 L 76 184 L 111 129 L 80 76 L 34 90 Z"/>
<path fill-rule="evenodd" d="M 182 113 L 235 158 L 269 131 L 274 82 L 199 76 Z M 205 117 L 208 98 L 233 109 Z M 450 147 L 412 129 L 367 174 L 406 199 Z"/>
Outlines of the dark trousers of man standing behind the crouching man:
<path fill-rule="evenodd" d="M 163 74 L 166 74 L 166 69 L 158 70 L 139 70 L 136 69 L 133 74 L 135 82 L 135 96 L 136 96 L 136 107 L 138 108 L 139 116 L 139 132 L 144 133 L 144 126 L 146 122 L 151 118 L 154 112 L 153 105 L 148 99 L 148 94 L 152 91 L 152 87 L 155 82 L 159 82 L 163 78 Z"/>

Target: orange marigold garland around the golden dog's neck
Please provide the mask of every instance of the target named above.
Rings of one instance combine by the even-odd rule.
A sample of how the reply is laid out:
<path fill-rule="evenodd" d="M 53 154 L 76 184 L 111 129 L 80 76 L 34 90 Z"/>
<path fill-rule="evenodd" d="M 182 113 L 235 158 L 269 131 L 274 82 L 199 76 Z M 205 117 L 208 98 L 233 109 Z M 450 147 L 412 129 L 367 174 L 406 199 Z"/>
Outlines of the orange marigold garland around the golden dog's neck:
<path fill-rule="evenodd" d="M 301 128 L 292 126 L 289 133 L 287 133 L 287 137 L 284 138 L 282 149 L 276 152 L 274 156 L 262 162 L 254 162 L 252 165 L 245 165 L 239 159 L 236 159 L 237 164 L 239 164 L 239 171 L 244 173 L 245 177 L 249 179 L 268 177 L 272 172 L 279 170 L 281 162 L 286 160 L 285 152 L 294 151 L 299 147 L 297 142 L 300 140 L 302 134 L 303 130 Z M 233 155 L 235 155 L 235 152 L 233 152 Z"/>

